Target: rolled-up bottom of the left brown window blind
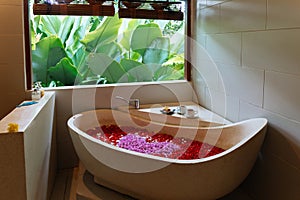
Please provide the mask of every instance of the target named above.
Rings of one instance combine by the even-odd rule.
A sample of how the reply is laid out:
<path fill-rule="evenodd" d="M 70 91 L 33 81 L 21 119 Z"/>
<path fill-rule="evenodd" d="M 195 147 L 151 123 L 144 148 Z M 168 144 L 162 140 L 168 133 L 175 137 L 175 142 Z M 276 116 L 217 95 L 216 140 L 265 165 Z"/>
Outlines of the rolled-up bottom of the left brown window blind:
<path fill-rule="evenodd" d="M 35 15 L 114 16 L 113 5 L 99 4 L 33 4 Z"/>

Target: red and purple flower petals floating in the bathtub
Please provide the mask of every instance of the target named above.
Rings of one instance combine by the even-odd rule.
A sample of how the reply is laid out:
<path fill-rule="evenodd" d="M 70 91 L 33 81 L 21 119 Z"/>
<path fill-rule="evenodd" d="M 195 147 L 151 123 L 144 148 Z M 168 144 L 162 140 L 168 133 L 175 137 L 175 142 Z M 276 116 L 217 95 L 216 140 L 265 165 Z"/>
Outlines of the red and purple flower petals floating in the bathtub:
<path fill-rule="evenodd" d="M 153 133 L 134 127 L 107 125 L 86 131 L 90 136 L 103 142 L 128 150 L 182 160 L 213 156 L 224 149 L 183 137 Z"/>

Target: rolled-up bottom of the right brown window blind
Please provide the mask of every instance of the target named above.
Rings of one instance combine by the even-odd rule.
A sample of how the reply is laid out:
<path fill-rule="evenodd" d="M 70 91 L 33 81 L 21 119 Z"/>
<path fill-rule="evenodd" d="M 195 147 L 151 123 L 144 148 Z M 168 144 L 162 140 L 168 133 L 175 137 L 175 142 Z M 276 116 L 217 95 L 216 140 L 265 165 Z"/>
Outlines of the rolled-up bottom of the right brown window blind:
<path fill-rule="evenodd" d="M 181 11 L 146 10 L 135 8 L 119 8 L 120 18 L 183 20 Z"/>

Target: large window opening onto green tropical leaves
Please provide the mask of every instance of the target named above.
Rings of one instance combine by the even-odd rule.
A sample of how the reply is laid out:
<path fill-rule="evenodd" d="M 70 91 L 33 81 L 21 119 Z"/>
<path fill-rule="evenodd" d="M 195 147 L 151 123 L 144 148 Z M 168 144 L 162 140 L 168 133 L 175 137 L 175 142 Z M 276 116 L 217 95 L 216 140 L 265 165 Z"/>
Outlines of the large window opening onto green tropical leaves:
<path fill-rule="evenodd" d="M 28 88 L 188 78 L 186 19 L 34 15 L 29 8 Z"/>

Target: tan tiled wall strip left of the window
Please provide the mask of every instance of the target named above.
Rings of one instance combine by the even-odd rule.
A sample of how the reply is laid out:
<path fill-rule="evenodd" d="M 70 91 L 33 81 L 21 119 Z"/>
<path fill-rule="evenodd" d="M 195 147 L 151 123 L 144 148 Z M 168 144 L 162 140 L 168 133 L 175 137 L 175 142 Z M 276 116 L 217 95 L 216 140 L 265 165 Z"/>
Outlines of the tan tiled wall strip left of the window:
<path fill-rule="evenodd" d="M 22 0 L 0 0 L 0 119 L 25 99 Z"/>

